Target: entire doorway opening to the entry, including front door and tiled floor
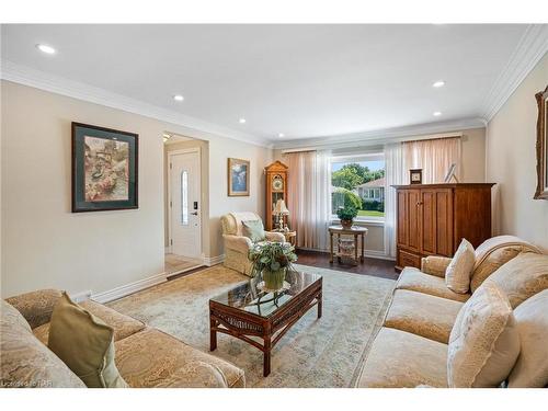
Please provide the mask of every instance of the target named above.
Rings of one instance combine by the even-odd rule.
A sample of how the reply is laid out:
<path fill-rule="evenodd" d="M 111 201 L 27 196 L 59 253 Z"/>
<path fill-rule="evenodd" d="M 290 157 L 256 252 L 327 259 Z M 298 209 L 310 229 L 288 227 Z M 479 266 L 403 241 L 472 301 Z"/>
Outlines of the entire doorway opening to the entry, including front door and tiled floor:
<path fill-rule="evenodd" d="M 165 273 L 203 265 L 201 147 L 165 146 Z"/>

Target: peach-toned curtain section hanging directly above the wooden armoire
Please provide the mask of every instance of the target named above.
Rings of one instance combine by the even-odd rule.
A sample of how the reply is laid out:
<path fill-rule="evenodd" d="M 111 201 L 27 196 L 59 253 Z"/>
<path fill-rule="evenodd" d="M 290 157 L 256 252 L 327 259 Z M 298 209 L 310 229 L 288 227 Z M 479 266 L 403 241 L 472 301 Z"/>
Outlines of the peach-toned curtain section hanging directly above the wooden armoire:
<path fill-rule="evenodd" d="M 406 163 L 410 169 L 422 169 L 424 184 L 443 183 L 450 164 L 460 178 L 460 137 L 403 142 Z"/>

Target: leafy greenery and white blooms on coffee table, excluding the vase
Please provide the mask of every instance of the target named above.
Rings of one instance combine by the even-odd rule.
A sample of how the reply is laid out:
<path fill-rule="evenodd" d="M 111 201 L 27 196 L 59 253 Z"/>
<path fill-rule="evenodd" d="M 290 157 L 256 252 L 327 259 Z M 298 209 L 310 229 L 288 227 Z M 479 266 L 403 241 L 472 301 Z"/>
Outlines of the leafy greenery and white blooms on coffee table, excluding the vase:
<path fill-rule="evenodd" d="M 288 242 L 264 242 L 254 244 L 248 253 L 252 262 L 252 276 L 260 275 L 263 270 L 276 272 L 290 267 L 297 261 L 295 247 Z"/>

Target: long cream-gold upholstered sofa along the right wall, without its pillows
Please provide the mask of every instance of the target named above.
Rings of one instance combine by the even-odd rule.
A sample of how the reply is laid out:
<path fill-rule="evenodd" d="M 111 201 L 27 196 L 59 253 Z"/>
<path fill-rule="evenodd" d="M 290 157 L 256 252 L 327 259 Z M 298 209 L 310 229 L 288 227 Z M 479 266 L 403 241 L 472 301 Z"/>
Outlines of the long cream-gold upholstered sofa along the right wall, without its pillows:
<path fill-rule="evenodd" d="M 401 272 L 357 387 L 448 387 L 449 334 L 465 301 L 486 281 L 495 282 L 509 296 L 516 317 L 526 318 L 527 312 L 516 309 L 521 310 L 524 301 L 540 293 L 543 295 L 538 298 L 541 298 L 543 307 L 548 307 L 548 255 L 516 237 L 494 237 L 476 249 L 471 286 L 467 294 L 457 294 L 446 286 L 445 269 L 450 261 L 448 258 L 427 256 L 422 260 L 421 270 L 406 267 Z M 548 357 L 546 343 L 539 350 Z M 527 358 L 530 353 L 522 345 L 520 355 Z M 543 368 L 543 373 L 546 374 L 541 383 L 545 386 L 548 384 L 548 368 Z"/>

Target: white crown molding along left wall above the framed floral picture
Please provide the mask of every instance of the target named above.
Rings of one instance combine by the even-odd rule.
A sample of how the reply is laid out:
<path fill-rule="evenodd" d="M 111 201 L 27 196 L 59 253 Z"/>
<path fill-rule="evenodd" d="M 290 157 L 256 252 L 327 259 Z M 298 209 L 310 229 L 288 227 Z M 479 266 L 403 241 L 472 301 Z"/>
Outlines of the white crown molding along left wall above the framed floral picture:
<path fill-rule="evenodd" d="M 182 126 L 191 137 L 206 140 L 210 140 L 212 136 L 226 137 L 266 148 L 270 148 L 272 145 L 272 141 L 267 139 L 204 122 L 172 110 L 165 110 L 79 81 L 69 80 L 27 66 L 18 65 L 10 60 L 1 61 L 0 78 L 2 80 L 33 87 L 52 93 Z"/>

